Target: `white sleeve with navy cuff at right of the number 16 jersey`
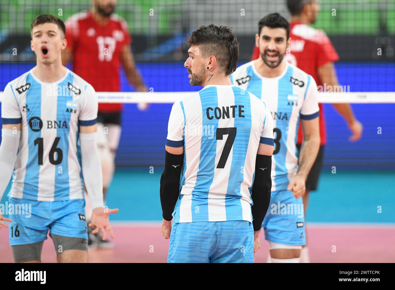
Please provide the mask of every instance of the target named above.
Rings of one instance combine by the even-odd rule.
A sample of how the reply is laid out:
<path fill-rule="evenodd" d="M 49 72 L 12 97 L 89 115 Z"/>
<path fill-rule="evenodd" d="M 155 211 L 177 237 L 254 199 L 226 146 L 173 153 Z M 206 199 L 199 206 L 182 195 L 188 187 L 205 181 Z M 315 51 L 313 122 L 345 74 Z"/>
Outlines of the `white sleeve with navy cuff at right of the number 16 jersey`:
<path fill-rule="evenodd" d="M 79 124 L 81 126 L 96 124 L 98 118 L 98 98 L 94 88 L 90 84 L 87 84 L 85 87 L 80 106 Z"/>

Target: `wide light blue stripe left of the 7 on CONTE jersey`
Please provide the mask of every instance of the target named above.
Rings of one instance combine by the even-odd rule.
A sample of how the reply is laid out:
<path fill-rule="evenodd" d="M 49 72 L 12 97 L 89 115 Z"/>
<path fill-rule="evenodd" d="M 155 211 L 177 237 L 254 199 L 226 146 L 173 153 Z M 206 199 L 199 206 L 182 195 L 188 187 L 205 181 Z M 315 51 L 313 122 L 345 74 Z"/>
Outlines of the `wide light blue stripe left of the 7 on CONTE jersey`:
<path fill-rule="evenodd" d="M 218 120 L 213 118 L 209 120 L 206 115 L 208 107 L 218 107 L 217 88 L 212 86 L 205 88 L 199 92 L 202 110 L 202 131 L 204 127 L 214 127 L 214 131 L 218 128 Z M 201 136 L 200 142 L 200 160 L 199 170 L 196 177 L 196 185 L 192 191 L 192 221 L 194 219 L 209 220 L 208 197 L 211 183 L 214 178 L 215 156 L 216 156 L 217 140 L 209 139 L 209 136 Z"/>

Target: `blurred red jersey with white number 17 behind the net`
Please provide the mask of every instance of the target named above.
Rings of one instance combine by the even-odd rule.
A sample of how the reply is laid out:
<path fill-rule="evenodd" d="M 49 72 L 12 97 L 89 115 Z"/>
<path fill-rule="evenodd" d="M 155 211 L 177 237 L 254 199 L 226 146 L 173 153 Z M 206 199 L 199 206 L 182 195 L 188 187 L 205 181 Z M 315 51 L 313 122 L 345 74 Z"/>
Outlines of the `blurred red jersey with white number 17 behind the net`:
<path fill-rule="evenodd" d="M 73 72 L 90 83 L 97 92 L 120 91 L 120 53 L 132 38 L 126 22 L 117 15 L 102 25 L 88 11 L 66 21 L 66 39 L 73 51 Z M 119 112 L 121 103 L 99 103 L 100 112 Z"/>

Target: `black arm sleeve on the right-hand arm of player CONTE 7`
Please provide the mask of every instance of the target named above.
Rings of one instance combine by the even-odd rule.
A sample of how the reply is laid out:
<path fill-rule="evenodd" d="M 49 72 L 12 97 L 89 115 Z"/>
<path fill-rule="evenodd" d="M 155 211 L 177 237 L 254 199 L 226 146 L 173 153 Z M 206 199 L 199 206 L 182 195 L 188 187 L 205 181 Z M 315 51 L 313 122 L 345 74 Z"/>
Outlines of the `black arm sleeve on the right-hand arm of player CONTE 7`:
<path fill-rule="evenodd" d="M 271 191 L 271 156 L 256 155 L 255 179 L 252 186 L 251 198 L 254 205 L 252 211 L 252 225 L 254 231 L 260 230 L 266 211 L 270 203 Z"/>

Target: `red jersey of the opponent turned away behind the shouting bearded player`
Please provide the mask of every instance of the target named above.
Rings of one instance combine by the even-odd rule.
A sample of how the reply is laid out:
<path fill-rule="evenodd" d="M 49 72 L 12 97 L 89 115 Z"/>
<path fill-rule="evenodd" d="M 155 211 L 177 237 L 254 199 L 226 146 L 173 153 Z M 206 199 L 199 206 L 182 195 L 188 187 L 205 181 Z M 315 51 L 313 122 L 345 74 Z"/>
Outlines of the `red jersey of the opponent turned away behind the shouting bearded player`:
<path fill-rule="evenodd" d="M 339 55 L 322 30 L 312 28 L 302 22 L 291 22 L 290 26 L 290 37 L 292 38 L 290 54 L 285 55 L 284 60 L 311 75 L 316 81 L 317 86 L 324 86 L 318 77 L 318 67 L 327 62 L 338 61 Z M 254 47 L 252 60 L 256 60 L 257 58 L 259 58 L 259 48 Z M 321 145 L 324 145 L 326 143 L 324 106 L 319 104 L 319 107 Z M 301 144 L 302 140 L 302 129 L 299 126 L 297 144 Z"/>

